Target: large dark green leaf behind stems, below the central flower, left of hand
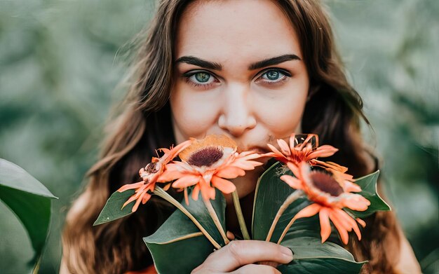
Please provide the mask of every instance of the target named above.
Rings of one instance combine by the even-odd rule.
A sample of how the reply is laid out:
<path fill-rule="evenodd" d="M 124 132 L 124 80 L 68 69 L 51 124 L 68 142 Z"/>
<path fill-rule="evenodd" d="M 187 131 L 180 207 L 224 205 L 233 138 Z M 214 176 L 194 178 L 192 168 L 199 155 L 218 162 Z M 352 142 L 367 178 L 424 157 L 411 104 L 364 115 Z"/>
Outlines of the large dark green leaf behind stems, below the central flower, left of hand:
<path fill-rule="evenodd" d="M 219 221 L 225 227 L 224 196 L 217 191 L 215 200 L 211 202 Z M 224 245 L 221 235 L 205 209 L 201 196 L 196 201 L 189 198 L 189 206 L 184 203 L 183 205 L 212 235 L 212 238 L 220 245 Z M 158 273 L 190 273 L 214 251 L 213 245 L 180 210 L 175 210 L 156 233 L 143 240 L 151 252 Z"/>

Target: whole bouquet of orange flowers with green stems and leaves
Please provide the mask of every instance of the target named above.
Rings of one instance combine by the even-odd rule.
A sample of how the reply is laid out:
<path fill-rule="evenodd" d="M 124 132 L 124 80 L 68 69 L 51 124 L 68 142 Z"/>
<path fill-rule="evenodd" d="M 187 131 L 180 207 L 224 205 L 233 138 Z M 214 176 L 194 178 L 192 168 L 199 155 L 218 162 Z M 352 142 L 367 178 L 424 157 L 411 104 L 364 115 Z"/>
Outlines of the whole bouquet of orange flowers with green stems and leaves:
<path fill-rule="evenodd" d="M 223 194 L 231 193 L 243 239 L 292 249 L 294 259 L 278 266 L 282 273 L 359 273 L 365 262 L 355 261 L 344 246 L 351 231 L 361 240 L 366 225 L 361 218 L 390 210 L 377 194 L 379 171 L 353 179 L 346 167 L 318 160 L 337 149 L 318 146 L 317 135 L 292 134 L 289 144 L 283 139 L 277 142 L 280 149 L 267 144 L 271 152 L 263 154 L 238 153 L 236 143 L 224 135 L 159 149 L 163 156 L 140 169 L 142 181 L 113 193 L 95 225 L 135 212 L 151 195 L 167 200 L 177 210 L 143 240 L 158 273 L 190 273 L 229 243 Z M 177 156 L 180 160 L 175 160 Z M 249 233 L 236 187 L 229 179 L 262 165 L 259 160 L 264 157 L 273 160 L 257 181 Z M 166 192 L 170 187 L 184 193 L 181 202 Z"/>

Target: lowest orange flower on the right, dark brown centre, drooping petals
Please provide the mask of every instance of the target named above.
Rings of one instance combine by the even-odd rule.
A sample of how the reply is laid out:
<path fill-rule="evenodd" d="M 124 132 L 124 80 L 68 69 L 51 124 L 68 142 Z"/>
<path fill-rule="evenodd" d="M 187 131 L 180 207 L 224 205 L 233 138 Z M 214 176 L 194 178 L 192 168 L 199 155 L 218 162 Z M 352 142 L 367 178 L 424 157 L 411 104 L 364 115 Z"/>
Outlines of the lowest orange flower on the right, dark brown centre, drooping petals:
<path fill-rule="evenodd" d="M 358 218 L 353 219 L 342 209 L 346 207 L 351 210 L 365 211 L 370 205 L 370 201 L 359 194 L 351 193 L 352 191 L 361 191 L 361 189 L 360 186 L 346 179 L 350 175 L 342 172 L 334 175 L 323 171 L 311 171 L 306 162 L 300 163 L 298 167 L 295 166 L 292 172 L 296 178 L 283 175 L 281 179 L 293 189 L 304 191 L 309 200 L 314 202 L 298 212 L 292 221 L 311 217 L 318 213 L 322 242 L 325 242 L 330 236 L 330 221 L 337 228 L 345 245 L 348 243 L 348 232 L 352 230 L 355 231 L 358 240 L 361 240 L 360 229 L 356 221 L 363 227 L 366 225 L 365 221 Z M 342 180 L 336 178 L 337 176 L 342 176 Z M 342 181 L 342 184 L 339 181 Z"/>

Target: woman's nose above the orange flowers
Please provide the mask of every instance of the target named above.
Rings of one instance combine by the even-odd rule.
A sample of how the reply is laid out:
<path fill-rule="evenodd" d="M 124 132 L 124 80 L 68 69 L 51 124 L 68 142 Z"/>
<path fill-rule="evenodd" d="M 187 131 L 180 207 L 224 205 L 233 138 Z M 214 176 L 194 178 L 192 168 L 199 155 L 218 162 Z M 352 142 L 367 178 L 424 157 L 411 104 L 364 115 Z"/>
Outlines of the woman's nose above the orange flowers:
<path fill-rule="evenodd" d="M 224 90 L 222 114 L 218 118 L 219 128 L 234 137 L 255 128 L 257 121 L 250 105 L 250 90 L 244 85 L 233 85 Z"/>

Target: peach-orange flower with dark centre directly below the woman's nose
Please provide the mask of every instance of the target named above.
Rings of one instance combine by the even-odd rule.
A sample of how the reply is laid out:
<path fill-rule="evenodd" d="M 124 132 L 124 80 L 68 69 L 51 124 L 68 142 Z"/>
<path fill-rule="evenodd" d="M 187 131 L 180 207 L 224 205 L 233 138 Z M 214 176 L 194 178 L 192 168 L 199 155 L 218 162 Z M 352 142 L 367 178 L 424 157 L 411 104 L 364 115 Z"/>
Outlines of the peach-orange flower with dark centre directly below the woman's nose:
<path fill-rule="evenodd" d="M 245 170 L 254 170 L 258 165 L 255 161 L 261 157 L 252 151 L 236 152 L 236 143 L 225 135 L 208 135 L 194 142 L 180 153 L 182 162 L 168 165 L 163 178 L 173 182 L 176 189 L 184 189 L 187 198 L 187 187 L 194 186 L 192 198 L 198 199 L 198 193 L 204 200 L 215 199 L 215 188 L 222 193 L 235 191 L 235 185 L 227 180 L 243 176 Z"/>

